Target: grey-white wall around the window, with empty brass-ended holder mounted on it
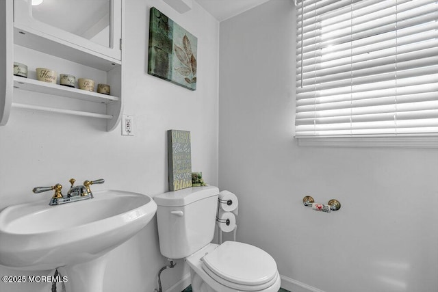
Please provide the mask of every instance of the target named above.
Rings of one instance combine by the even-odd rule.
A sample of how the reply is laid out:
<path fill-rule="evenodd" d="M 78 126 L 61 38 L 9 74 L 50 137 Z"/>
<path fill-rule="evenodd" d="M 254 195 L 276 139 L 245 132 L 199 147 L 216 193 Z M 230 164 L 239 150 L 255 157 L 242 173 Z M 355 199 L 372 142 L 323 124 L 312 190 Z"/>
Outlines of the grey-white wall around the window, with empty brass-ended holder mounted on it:
<path fill-rule="evenodd" d="M 290 0 L 220 23 L 219 186 L 240 197 L 237 239 L 294 292 L 438 291 L 438 151 L 298 147 L 295 35 Z"/>

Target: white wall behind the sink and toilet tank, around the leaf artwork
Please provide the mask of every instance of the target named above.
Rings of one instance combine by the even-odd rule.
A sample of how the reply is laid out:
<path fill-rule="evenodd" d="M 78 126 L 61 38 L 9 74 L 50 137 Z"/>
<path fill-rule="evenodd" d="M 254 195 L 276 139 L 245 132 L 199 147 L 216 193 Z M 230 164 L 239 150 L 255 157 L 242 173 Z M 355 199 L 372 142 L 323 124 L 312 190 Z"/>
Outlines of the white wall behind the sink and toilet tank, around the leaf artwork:
<path fill-rule="evenodd" d="M 195 2 L 178 14 L 163 1 L 126 2 L 124 40 L 125 114 L 134 116 L 135 136 L 107 133 L 105 122 L 13 109 L 0 127 L 0 210 L 10 204 L 47 200 L 34 195 L 40 185 L 105 178 L 99 189 L 123 189 L 155 196 L 168 190 L 166 131 L 192 132 L 192 170 L 218 184 L 218 40 L 219 24 Z M 148 75 L 149 8 L 155 6 L 198 38 L 198 85 L 192 92 Z M 16 92 L 14 98 L 28 92 Z M 68 220 L 69 218 L 62 218 Z M 51 224 L 51 222 L 47 222 Z M 1 244 L 1 239 L 0 239 Z M 105 274 L 105 292 L 145 291 L 157 287 L 159 268 L 168 264 L 159 253 L 156 220 L 112 252 Z M 162 274 L 164 289 L 184 274 L 183 262 Z M 0 267 L 1 275 L 25 272 Z M 43 273 L 44 274 L 44 273 Z M 33 284 L 5 284 L 0 291 L 49 291 Z"/>

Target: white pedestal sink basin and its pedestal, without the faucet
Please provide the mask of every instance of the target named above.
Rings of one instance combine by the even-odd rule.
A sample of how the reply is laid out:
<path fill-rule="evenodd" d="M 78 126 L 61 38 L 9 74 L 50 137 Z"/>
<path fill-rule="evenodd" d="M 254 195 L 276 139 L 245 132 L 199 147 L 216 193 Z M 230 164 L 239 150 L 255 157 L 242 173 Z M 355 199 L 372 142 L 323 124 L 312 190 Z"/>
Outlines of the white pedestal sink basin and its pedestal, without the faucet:
<path fill-rule="evenodd" d="M 106 254 L 148 224 L 157 204 L 127 191 L 49 206 L 17 204 L 0 213 L 0 264 L 38 271 L 64 267 L 71 292 L 100 292 Z"/>

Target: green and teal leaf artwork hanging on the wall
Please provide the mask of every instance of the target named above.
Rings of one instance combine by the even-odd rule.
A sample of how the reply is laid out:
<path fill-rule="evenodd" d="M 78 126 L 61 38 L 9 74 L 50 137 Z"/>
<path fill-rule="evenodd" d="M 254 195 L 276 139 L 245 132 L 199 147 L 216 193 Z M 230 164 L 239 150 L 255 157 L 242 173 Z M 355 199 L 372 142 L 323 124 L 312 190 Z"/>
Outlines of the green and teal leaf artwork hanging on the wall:
<path fill-rule="evenodd" d="M 196 90 L 198 39 L 151 8 L 148 74 Z"/>

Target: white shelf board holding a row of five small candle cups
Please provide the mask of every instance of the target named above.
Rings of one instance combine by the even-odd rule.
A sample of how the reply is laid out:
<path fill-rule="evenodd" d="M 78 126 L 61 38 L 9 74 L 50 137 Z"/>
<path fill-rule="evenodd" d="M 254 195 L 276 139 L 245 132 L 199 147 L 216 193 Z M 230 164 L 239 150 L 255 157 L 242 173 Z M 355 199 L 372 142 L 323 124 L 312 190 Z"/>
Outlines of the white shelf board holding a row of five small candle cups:
<path fill-rule="evenodd" d="M 108 104 L 120 100 L 120 98 L 118 98 L 117 96 L 111 96 L 97 92 L 90 92 L 86 90 L 80 90 L 77 88 L 69 88 L 68 86 L 42 82 L 42 81 L 23 78 L 19 76 L 14 76 L 14 88 L 18 88 L 20 90 L 27 90 L 31 92 L 51 94 L 55 96 L 64 96 L 67 98 L 75 98 L 75 99 L 80 99 L 82 101 L 91 101 L 93 103 Z"/>

